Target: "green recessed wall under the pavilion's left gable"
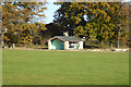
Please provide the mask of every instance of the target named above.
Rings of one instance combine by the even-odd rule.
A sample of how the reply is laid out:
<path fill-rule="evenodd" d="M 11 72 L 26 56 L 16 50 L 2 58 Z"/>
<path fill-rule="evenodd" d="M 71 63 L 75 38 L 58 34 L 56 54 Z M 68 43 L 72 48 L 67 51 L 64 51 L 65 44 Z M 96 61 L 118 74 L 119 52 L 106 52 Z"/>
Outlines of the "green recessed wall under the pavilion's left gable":
<path fill-rule="evenodd" d="M 64 49 L 64 42 L 59 39 L 51 40 L 52 47 L 56 48 L 56 50 L 63 50 Z"/>

